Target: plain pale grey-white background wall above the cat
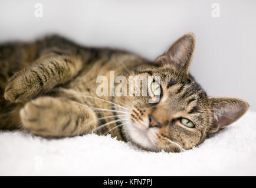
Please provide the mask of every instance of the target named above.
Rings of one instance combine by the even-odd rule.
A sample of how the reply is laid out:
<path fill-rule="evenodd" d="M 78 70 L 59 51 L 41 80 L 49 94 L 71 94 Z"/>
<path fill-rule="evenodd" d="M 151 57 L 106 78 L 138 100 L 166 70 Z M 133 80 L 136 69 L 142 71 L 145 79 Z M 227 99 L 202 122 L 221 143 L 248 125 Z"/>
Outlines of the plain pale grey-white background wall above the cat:
<path fill-rule="evenodd" d="M 42 18 L 35 4 L 43 5 Z M 210 96 L 247 100 L 256 109 L 256 1 L 3 1 L 0 42 L 59 33 L 78 43 L 110 46 L 155 59 L 180 35 L 196 36 L 191 73 Z"/>

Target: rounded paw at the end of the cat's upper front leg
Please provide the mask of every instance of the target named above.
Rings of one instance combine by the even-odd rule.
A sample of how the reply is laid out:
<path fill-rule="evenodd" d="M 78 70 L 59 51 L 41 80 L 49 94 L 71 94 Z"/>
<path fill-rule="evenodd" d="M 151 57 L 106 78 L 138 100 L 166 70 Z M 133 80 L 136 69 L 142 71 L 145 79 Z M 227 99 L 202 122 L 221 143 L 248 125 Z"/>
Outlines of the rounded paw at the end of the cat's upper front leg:
<path fill-rule="evenodd" d="M 42 83 L 31 72 L 17 72 L 5 87 L 4 97 L 11 102 L 24 103 L 40 93 Z"/>

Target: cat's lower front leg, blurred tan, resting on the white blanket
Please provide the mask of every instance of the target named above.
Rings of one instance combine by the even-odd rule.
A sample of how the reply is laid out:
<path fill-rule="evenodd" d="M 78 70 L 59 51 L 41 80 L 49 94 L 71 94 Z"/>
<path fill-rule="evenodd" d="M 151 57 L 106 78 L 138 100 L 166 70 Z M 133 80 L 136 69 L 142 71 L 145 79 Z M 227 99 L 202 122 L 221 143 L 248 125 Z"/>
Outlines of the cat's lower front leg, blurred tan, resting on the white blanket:
<path fill-rule="evenodd" d="M 77 136 L 97 127 L 96 114 L 87 105 L 48 96 L 28 102 L 20 111 L 25 129 L 44 137 Z"/>

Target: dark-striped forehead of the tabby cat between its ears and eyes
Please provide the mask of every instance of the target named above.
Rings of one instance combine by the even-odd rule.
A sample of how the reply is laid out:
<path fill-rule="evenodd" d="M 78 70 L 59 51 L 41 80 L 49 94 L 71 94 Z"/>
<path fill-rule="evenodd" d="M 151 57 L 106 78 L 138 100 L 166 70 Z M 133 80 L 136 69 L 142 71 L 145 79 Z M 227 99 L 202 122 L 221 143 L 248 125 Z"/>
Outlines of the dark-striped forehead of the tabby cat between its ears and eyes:
<path fill-rule="evenodd" d="M 160 76 L 163 101 L 169 108 L 177 111 L 183 109 L 191 114 L 199 113 L 201 109 L 204 109 L 203 103 L 207 99 L 206 93 L 188 73 L 172 68 L 162 68 L 155 70 L 152 75 Z"/>

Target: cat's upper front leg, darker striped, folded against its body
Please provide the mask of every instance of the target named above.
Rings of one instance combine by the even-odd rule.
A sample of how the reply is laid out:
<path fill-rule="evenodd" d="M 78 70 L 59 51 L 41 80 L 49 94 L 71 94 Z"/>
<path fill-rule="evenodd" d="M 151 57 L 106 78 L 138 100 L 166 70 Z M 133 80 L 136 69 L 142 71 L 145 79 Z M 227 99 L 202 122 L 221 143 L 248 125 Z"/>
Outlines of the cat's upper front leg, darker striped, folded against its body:
<path fill-rule="evenodd" d="M 83 67 L 79 56 L 44 55 L 13 75 L 5 88 L 5 99 L 27 102 L 71 80 Z"/>

